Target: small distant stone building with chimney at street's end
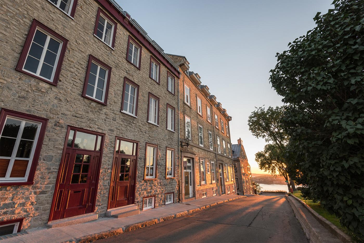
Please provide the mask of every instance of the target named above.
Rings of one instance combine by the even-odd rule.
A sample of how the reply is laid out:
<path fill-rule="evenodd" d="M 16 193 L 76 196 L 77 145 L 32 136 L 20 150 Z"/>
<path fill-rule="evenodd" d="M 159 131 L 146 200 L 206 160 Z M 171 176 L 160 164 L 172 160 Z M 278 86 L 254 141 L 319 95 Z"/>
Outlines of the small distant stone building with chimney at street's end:
<path fill-rule="evenodd" d="M 238 144 L 233 144 L 232 149 L 235 165 L 235 184 L 238 195 L 256 194 L 254 192 L 252 172 L 250 171 L 250 165 L 241 138 L 238 139 Z"/>

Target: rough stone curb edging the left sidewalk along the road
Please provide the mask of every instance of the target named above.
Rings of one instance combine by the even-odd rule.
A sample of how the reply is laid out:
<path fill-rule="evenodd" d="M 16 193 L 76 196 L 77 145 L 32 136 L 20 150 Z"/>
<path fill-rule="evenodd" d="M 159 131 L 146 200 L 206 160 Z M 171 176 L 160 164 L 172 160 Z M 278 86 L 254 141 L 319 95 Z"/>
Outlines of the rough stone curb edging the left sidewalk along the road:
<path fill-rule="evenodd" d="M 163 217 L 160 217 L 160 218 L 155 218 L 155 219 L 150 219 L 150 220 L 146 220 L 146 221 L 135 223 L 135 224 L 130 224 L 130 225 L 127 225 L 127 226 L 122 227 L 122 228 L 117 228 L 117 229 L 114 228 L 112 230 L 107 230 L 107 231 L 100 232 L 100 233 L 97 233 L 97 234 L 92 234 L 92 235 L 88 235 L 88 236 L 78 238 L 73 242 L 87 243 L 87 242 L 93 242 L 95 240 L 100 240 L 100 239 L 120 235 L 120 234 L 122 234 L 124 232 L 137 230 L 139 228 L 144 228 L 144 227 L 147 227 L 147 226 L 151 226 L 153 224 L 158 224 L 158 223 L 161 223 L 163 221 L 179 218 L 179 217 L 185 216 L 187 214 L 192 214 L 194 212 L 201 211 L 201 210 L 204 210 L 204 209 L 209 208 L 209 207 L 216 206 L 216 205 L 221 204 L 221 203 L 231 202 L 233 200 L 240 199 L 240 198 L 246 198 L 246 196 L 238 196 L 236 198 L 230 198 L 230 199 L 222 200 L 222 201 L 219 201 L 219 202 L 206 204 L 206 205 L 203 205 L 203 206 L 200 206 L 200 207 L 197 207 L 197 208 L 177 212 L 175 214 L 170 214 L 170 215 L 163 216 Z M 70 243 L 70 242 L 68 242 L 68 243 Z"/>

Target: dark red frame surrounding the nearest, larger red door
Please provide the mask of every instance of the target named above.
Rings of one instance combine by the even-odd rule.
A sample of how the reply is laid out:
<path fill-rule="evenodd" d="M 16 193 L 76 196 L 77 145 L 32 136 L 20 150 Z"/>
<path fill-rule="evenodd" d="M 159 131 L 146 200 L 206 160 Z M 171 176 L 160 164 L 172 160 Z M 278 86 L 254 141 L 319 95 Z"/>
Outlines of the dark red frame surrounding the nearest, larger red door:
<path fill-rule="evenodd" d="M 92 200 L 92 212 L 95 211 L 95 206 L 96 206 L 96 196 L 97 196 L 97 192 L 98 192 L 98 187 L 99 187 L 99 179 L 100 179 L 100 169 L 101 169 L 101 162 L 102 162 L 102 155 L 104 152 L 104 143 L 105 143 L 105 134 L 100 133 L 100 132 L 95 132 L 95 131 L 91 131 L 91 130 L 87 130 L 87 129 L 83 129 L 83 128 L 78 128 L 78 127 L 74 127 L 74 126 L 70 126 L 68 125 L 67 127 L 67 132 L 66 132 L 66 136 L 64 138 L 64 145 L 63 145 L 63 151 L 62 151 L 62 157 L 61 157 L 61 161 L 59 163 L 59 168 L 58 168 L 58 173 L 57 173 L 57 179 L 56 179 L 56 183 L 55 183 L 55 188 L 54 188 L 54 193 L 53 193 L 53 198 L 52 198 L 52 204 L 51 204 L 51 209 L 50 209 L 50 213 L 49 213 L 49 217 L 48 217 L 48 222 L 52 221 L 52 216 L 53 216 L 53 212 L 54 212 L 54 208 L 55 208 L 55 203 L 56 203 L 56 196 L 57 196 L 57 191 L 59 188 L 59 180 L 61 178 L 61 174 L 60 171 L 62 171 L 63 169 L 66 169 L 65 166 L 68 167 L 68 164 L 66 164 L 66 150 L 67 150 L 67 143 L 68 143 L 68 136 L 70 135 L 70 130 L 75 130 L 75 131 L 80 131 L 80 132 L 86 132 L 88 134 L 94 134 L 97 136 L 101 136 L 102 140 L 101 140 L 101 146 L 100 146 L 100 158 L 99 161 L 97 162 L 98 164 L 95 165 L 96 167 L 96 182 L 95 182 L 95 194 L 94 194 L 94 198 Z M 83 149 L 77 149 L 77 150 L 83 150 Z M 84 151 L 94 151 L 94 150 L 84 150 Z M 96 152 L 96 151 L 94 151 Z M 63 196 L 62 196 L 63 197 Z M 62 200 L 62 199 L 61 199 Z"/>

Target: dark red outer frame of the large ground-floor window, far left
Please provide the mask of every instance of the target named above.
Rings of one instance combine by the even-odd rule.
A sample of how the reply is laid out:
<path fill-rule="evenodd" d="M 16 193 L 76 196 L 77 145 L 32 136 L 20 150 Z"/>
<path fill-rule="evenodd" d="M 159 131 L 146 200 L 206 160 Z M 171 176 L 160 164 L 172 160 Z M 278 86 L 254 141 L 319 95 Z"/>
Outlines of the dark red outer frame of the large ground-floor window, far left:
<path fill-rule="evenodd" d="M 36 145 L 36 148 L 34 151 L 33 159 L 31 161 L 32 164 L 31 164 L 31 167 L 29 170 L 29 175 L 28 175 L 27 181 L 26 182 L 1 182 L 0 186 L 32 185 L 32 184 L 34 184 L 34 182 L 33 182 L 34 175 L 35 175 L 35 171 L 36 171 L 36 168 L 38 165 L 39 154 L 40 154 L 40 150 L 41 150 L 41 147 L 43 144 L 44 134 L 46 133 L 48 119 L 38 117 L 38 116 L 28 115 L 28 114 L 22 113 L 22 112 L 11 111 L 8 109 L 1 109 L 1 111 L 0 111 L 0 133 L 3 130 L 4 124 L 5 124 L 5 119 L 7 116 L 14 116 L 14 117 L 18 117 L 20 119 L 27 119 L 27 120 L 39 122 L 39 123 L 41 123 L 41 128 L 39 131 L 37 145 Z"/>

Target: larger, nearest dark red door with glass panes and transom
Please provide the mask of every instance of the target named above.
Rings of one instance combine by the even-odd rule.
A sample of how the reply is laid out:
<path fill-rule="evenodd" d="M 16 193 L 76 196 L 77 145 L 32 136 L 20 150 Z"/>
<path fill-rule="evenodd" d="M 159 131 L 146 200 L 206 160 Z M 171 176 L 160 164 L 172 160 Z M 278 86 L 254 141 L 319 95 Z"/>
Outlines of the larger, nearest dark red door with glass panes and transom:
<path fill-rule="evenodd" d="M 69 127 L 49 220 L 95 210 L 103 134 Z"/>

